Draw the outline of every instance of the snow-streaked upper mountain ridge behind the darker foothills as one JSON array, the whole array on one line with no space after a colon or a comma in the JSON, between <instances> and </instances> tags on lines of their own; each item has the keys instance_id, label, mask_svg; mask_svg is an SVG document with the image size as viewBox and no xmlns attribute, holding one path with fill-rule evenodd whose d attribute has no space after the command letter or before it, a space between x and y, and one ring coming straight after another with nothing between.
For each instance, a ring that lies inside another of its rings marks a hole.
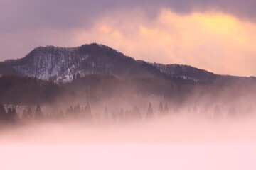
<instances>
[{"instance_id":1,"label":"snow-streaked upper mountain ridge behind the darker foothills","mask_svg":"<svg viewBox=\"0 0 256 170\"><path fill-rule=\"evenodd\" d=\"M36 47L26 57L6 60L1 64L4 65L0 65L1 74L25 75L58 83L67 83L90 74L117 78L157 77L182 84L220 84L227 79L252 79L221 76L181 64L166 65L134 60L117 50L96 43L80 47Z\"/></svg>"}]
</instances>

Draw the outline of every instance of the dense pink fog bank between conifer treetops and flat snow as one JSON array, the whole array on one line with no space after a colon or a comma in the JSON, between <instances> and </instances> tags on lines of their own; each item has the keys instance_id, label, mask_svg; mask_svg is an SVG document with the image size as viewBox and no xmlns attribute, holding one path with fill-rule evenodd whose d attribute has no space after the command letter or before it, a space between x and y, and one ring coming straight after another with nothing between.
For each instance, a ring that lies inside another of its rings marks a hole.
<instances>
[{"instance_id":1,"label":"dense pink fog bank between conifer treetops and flat snow","mask_svg":"<svg viewBox=\"0 0 256 170\"><path fill-rule=\"evenodd\" d=\"M256 142L256 117L206 118L162 115L125 123L85 120L31 121L1 129L0 143L106 144L106 143L250 143Z\"/></svg>"}]
</instances>

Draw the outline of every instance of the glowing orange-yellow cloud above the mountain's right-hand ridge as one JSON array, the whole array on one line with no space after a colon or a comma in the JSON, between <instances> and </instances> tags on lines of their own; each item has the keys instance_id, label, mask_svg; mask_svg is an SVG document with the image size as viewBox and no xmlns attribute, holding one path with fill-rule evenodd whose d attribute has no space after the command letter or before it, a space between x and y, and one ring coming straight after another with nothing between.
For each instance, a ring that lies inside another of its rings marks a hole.
<instances>
[{"instance_id":1,"label":"glowing orange-yellow cloud above the mountain's right-hand ridge","mask_svg":"<svg viewBox=\"0 0 256 170\"><path fill-rule=\"evenodd\" d=\"M256 23L225 13L117 12L78 30L75 44L100 42L149 62L190 64L218 74L256 75Z\"/></svg>"}]
</instances>

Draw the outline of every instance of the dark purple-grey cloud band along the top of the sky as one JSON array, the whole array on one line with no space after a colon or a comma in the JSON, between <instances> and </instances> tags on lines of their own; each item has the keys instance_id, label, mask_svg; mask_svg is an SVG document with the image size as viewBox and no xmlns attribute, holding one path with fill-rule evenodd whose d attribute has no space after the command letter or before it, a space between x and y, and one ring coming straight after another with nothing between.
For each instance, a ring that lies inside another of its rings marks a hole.
<instances>
[{"instance_id":1,"label":"dark purple-grey cloud band along the top of the sky","mask_svg":"<svg viewBox=\"0 0 256 170\"><path fill-rule=\"evenodd\" d=\"M140 8L154 16L159 8L178 13L216 10L241 18L256 19L255 0L1 0L0 31L43 28L90 27L112 10Z\"/></svg>"}]
</instances>

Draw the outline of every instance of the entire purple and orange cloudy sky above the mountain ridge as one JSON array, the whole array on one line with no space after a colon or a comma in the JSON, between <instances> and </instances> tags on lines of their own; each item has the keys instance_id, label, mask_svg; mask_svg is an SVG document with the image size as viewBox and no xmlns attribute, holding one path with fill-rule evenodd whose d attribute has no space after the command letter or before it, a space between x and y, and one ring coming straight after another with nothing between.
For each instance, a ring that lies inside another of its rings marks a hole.
<instances>
[{"instance_id":1,"label":"entire purple and orange cloudy sky above the mountain ridge","mask_svg":"<svg viewBox=\"0 0 256 170\"><path fill-rule=\"evenodd\" d=\"M97 42L137 60L256 76L255 0L0 0L0 61Z\"/></svg>"}]
</instances>

